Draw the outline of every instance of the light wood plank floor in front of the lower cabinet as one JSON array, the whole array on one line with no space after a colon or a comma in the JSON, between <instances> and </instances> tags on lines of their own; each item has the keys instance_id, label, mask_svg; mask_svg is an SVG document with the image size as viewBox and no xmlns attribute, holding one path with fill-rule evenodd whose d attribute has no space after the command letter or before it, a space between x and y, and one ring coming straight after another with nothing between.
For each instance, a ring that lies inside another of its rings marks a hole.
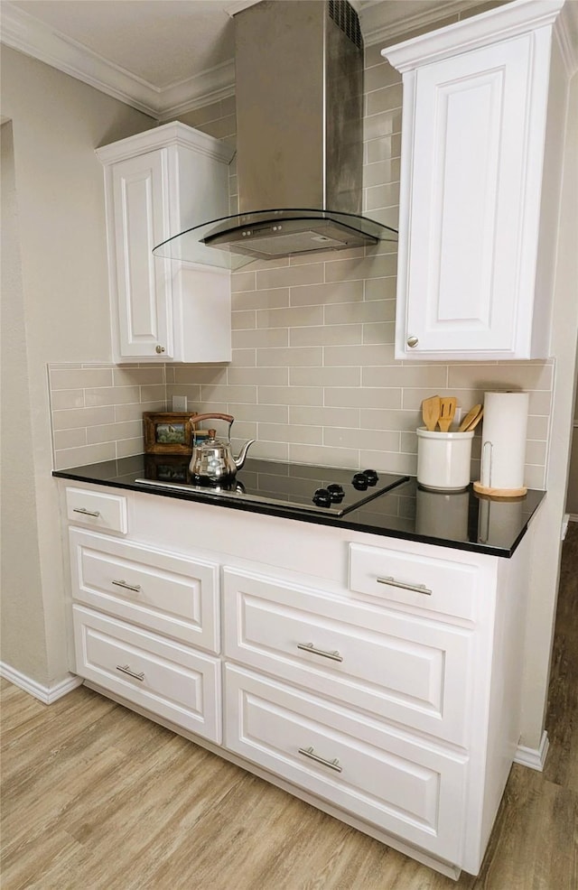
<instances>
[{"instance_id":1,"label":"light wood plank floor in front of the lower cabinet","mask_svg":"<svg viewBox=\"0 0 578 890\"><path fill-rule=\"evenodd\" d=\"M514 765L457 882L83 687L3 681L2 890L576 890L578 524L564 542L545 772Z\"/></svg>"}]
</instances>

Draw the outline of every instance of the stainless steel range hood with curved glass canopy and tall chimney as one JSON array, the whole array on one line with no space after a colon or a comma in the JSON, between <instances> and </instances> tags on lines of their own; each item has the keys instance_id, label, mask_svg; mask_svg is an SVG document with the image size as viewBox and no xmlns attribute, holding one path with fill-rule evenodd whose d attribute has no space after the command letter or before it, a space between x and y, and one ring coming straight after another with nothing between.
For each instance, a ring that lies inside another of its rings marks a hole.
<instances>
[{"instance_id":1,"label":"stainless steel range hood with curved glass canopy and tall chimney","mask_svg":"<svg viewBox=\"0 0 578 890\"><path fill-rule=\"evenodd\" d=\"M262 0L235 28L238 214L154 254L237 267L396 241L361 216L363 41L352 6Z\"/></svg>"}]
</instances>

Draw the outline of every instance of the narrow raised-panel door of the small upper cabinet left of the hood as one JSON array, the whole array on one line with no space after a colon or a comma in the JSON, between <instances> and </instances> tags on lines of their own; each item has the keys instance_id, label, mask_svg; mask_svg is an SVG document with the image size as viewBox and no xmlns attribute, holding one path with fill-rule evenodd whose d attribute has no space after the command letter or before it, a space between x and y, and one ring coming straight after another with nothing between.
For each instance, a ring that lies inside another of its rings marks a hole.
<instances>
[{"instance_id":1,"label":"narrow raised-panel door of the small upper cabinet left of the hood","mask_svg":"<svg viewBox=\"0 0 578 890\"><path fill-rule=\"evenodd\" d=\"M171 261L153 256L169 236L167 164L159 149L112 169L120 358L173 354Z\"/></svg>"}]
</instances>

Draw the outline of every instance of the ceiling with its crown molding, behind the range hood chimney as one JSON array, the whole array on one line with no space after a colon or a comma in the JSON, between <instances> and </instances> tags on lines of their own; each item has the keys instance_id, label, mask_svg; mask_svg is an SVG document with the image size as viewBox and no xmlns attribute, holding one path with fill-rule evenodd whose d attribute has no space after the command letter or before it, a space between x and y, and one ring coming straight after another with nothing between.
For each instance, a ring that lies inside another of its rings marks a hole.
<instances>
[{"instance_id":1,"label":"ceiling with its crown molding, behind the range hood chimney","mask_svg":"<svg viewBox=\"0 0 578 890\"><path fill-rule=\"evenodd\" d=\"M256 2L2 0L1 36L8 46L163 121L233 94L232 16ZM480 0L350 2L366 44L395 42L402 32L480 5Z\"/></svg>"}]
</instances>

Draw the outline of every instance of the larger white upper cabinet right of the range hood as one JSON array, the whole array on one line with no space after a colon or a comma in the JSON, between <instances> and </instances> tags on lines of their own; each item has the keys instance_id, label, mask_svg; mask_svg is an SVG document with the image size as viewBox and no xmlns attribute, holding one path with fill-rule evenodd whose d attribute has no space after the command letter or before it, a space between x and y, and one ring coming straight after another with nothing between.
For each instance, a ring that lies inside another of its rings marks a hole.
<instances>
[{"instance_id":1,"label":"larger white upper cabinet right of the range hood","mask_svg":"<svg viewBox=\"0 0 578 890\"><path fill-rule=\"evenodd\" d=\"M382 51L404 89L397 358L549 355L563 5L515 0Z\"/></svg>"}]
</instances>

